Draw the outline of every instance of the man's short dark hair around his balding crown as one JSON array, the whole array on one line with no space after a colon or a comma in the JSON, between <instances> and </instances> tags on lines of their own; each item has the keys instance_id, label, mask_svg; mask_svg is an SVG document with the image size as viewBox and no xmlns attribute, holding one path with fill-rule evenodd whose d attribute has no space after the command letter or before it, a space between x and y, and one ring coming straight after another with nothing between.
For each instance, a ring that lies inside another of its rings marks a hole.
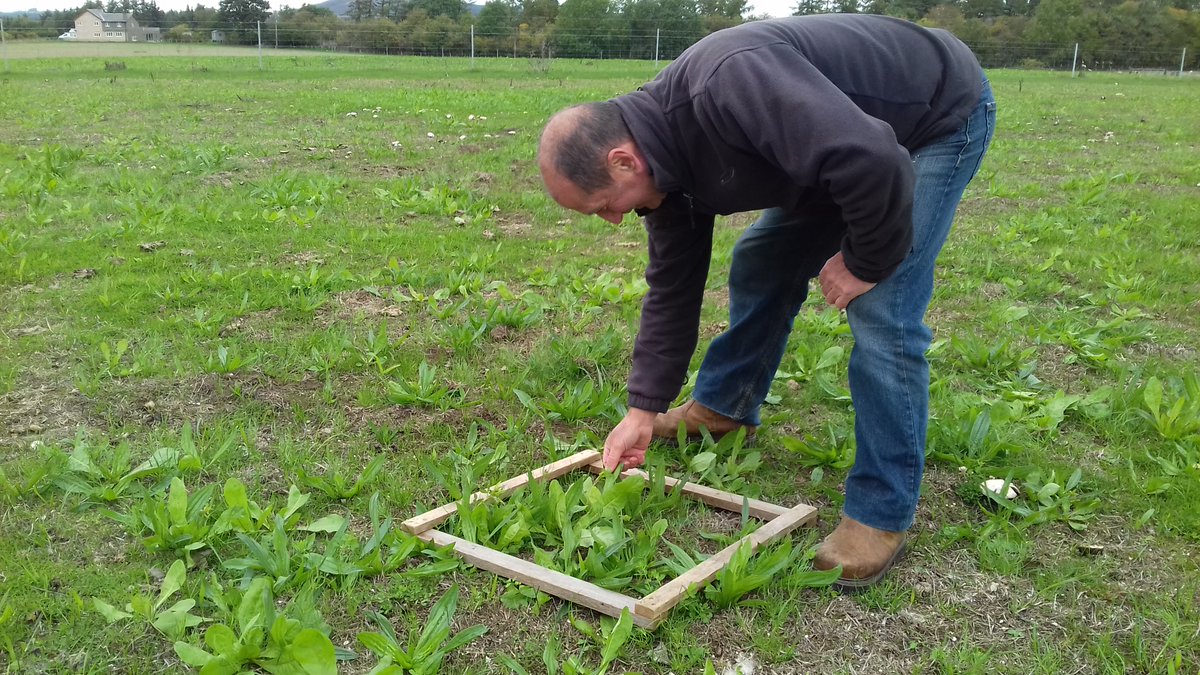
<instances>
[{"instance_id":1,"label":"man's short dark hair around his balding crown","mask_svg":"<svg viewBox=\"0 0 1200 675\"><path fill-rule=\"evenodd\" d=\"M632 139L620 108L612 101L596 101L564 112L574 113L574 124L554 144L554 169L588 195L607 187L612 184L608 150Z\"/></svg>"}]
</instances>

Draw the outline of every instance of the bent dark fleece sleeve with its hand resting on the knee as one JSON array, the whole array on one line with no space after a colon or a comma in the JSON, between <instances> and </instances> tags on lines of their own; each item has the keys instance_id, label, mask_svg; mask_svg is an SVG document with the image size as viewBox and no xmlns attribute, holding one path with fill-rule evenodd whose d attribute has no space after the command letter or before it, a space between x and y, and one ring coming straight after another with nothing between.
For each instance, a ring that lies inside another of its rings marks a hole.
<instances>
[{"instance_id":1,"label":"bent dark fleece sleeve with its hand resting on the knee","mask_svg":"<svg viewBox=\"0 0 1200 675\"><path fill-rule=\"evenodd\" d=\"M799 52L776 44L715 68L697 100L712 132L841 209L846 267L887 279L912 246L913 171L892 127L864 113Z\"/></svg>"}]
</instances>

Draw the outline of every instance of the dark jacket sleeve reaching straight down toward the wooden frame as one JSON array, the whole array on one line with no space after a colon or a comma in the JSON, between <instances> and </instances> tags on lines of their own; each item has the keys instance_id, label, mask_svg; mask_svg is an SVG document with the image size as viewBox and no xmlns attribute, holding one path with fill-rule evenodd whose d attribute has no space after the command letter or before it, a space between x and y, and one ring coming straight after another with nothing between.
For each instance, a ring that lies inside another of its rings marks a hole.
<instances>
[{"instance_id":1,"label":"dark jacket sleeve reaching straight down toward the wooden frame","mask_svg":"<svg viewBox=\"0 0 1200 675\"><path fill-rule=\"evenodd\" d=\"M642 323L634 344L629 406L664 412L679 395L696 351L700 310L713 252L713 216L670 195L646 215L649 262Z\"/></svg>"}]
</instances>

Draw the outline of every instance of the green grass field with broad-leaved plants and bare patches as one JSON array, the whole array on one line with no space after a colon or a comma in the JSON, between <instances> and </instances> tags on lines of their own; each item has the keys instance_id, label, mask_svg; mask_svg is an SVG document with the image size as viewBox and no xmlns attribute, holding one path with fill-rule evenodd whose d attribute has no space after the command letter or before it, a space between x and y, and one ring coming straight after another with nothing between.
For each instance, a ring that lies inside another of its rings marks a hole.
<instances>
[{"instance_id":1,"label":"green grass field with broad-leaved plants and bare patches","mask_svg":"<svg viewBox=\"0 0 1200 675\"><path fill-rule=\"evenodd\" d=\"M1200 83L991 73L910 556L853 597L809 572L853 458L848 328L812 304L752 450L654 456L821 524L626 634L395 524L620 418L644 234L559 209L533 154L653 65L122 56L0 77L10 671L1200 669ZM750 217L719 221L702 342ZM449 526L631 593L754 526L577 478Z\"/></svg>"}]
</instances>

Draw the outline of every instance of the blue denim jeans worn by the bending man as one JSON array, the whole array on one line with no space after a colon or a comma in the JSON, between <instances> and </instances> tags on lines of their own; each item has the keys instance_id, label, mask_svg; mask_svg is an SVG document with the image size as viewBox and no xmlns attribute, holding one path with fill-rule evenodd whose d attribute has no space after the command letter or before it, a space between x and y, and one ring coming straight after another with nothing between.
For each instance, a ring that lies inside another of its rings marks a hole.
<instances>
[{"instance_id":1,"label":"blue denim jeans worn by the bending man","mask_svg":"<svg viewBox=\"0 0 1200 675\"><path fill-rule=\"evenodd\" d=\"M967 183L991 143L996 101L984 78L979 104L962 129L912 154L913 243L904 263L846 310L854 348L854 466L846 478L846 515L880 530L907 530L917 510L929 424L925 310L934 263ZM840 250L836 214L768 209L738 239L730 268L730 325L708 347L692 398L745 424L782 360L809 280Z\"/></svg>"}]
</instances>

